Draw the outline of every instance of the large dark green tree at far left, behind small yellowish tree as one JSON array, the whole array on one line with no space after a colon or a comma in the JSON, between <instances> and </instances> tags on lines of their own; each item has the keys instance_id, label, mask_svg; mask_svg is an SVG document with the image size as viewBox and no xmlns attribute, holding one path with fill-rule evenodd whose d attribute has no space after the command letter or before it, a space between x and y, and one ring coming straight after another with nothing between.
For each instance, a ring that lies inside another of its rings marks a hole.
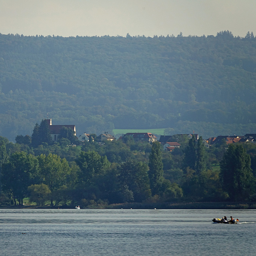
<instances>
[{"instance_id":1,"label":"large dark green tree at far left, behind small yellowish tree","mask_svg":"<svg viewBox=\"0 0 256 256\"><path fill-rule=\"evenodd\" d=\"M29 185L37 181L38 160L26 152L14 152L9 161L2 165L2 182L4 190L10 191L13 198L23 204ZM15 202L16 203L16 202Z\"/></svg>"}]
</instances>

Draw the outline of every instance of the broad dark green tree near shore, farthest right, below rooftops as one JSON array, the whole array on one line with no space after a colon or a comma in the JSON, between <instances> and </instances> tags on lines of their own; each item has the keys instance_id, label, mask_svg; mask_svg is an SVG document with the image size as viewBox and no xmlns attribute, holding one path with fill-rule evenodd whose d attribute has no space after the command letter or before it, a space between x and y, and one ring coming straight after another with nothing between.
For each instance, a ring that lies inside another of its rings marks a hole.
<instances>
[{"instance_id":1,"label":"broad dark green tree near shore, farthest right, below rooftops","mask_svg":"<svg viewBox=\"0 0 256 256\"><path fill-rule=\"evenodd\" d=\"M220 162L220 177L223 190L230 199L246 200L255 191L250 156L241 144L230 144Z\"/></svg>"}]
</instances>

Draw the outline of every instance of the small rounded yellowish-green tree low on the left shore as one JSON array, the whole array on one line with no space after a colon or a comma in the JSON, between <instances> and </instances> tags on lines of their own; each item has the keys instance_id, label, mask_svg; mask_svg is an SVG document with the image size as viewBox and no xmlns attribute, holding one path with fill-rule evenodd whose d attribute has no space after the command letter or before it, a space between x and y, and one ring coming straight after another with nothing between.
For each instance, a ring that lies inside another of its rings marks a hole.
<instances>
[{"instance_id":1,"label":"small rounded yellowish-green tree low on the left shore","mask_svg":"<svg viewBox=\"0 0 256 256\"><path fill-rule=\"evenodd\" d=\"M28 186L30 202L36 202L36 205L44 205L50 199L51 190L46 184L34 184Z\"/></svg>"}]
</instances>

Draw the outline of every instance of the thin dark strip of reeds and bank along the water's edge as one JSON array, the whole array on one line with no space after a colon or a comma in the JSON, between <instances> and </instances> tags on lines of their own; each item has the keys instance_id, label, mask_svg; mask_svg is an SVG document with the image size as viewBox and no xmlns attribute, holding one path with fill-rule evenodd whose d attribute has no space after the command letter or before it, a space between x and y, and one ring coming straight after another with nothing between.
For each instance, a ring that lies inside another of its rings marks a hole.
<instances>
[{"instance_id":1,"label":"thin dark strip of reeds and bank along the water's edge","mask_svg":"<svg viewBox=\"0 0 256 256\"><path fill-rule=\"evenodd\" d=\"M73 206L2 205L1 209L74 209ZM82 209L82 208L81 208ZM87 206L83 209L170 209L170 210L256 210L256 202L179 202L179 203L124 203Z\"/></svg>"}]
</instances>

